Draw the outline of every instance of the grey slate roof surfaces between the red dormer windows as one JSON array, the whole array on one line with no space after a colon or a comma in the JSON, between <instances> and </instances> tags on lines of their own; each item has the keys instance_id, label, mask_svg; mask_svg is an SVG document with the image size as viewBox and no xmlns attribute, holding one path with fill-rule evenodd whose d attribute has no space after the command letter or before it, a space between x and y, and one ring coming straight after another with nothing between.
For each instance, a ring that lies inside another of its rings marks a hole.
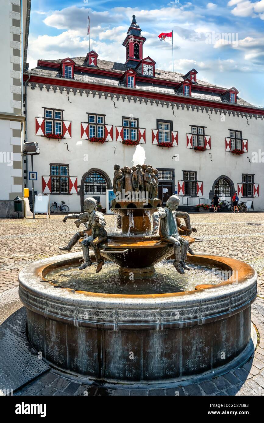
<instances>
[{"instance_id":1,"label":"grey slate roof surfaces between the red dormer windows","mask_svg":"<svg viewBox=\"0 0 264 423\"><path fill-rule=\"evenodd\" d=\"M91 69L91 66L88 66L87 63L85 62L85 57L73 57L71 58L72 60L74 60L74 62L76 63L77 66L83 66L83 67L87 67L89 69ZM61 60L63 59L56 59L56 60L47 60L47 59L41 59L41 61L43 62L49 62L49 63L60 63ZM49 67L45 66L45 69L43 69L44 66L37 66L34 69L30 69L28 71L28 73L37 73L41 74L43 76L45 76L45 73L47 73L47 76L54 76L54 77L58 77L60 74L60 70L59 69L55 69L52 68L50 65ZM102 75L96 75L96 69L102 70L102 71L111 71L111 72L115 72L116 73L116 80L114 77L107 77L107 76L102 76ZM94 68L94 75L93 74L88 74L88 80L93 80L95 79L96 82L107 82L107 80L111 81L111 85L118 85L119 82L119 78L120 75L123 74L126 70L127 70L127 66L125 66L123 63L117 63L117 62L111 62L109 60L100 60L97 59L97 68ZM151 83L147 83L147 82L137 82L136 87L140 88L142 87L143 89L150 89L151 91L159 91L159 88L162 88L162 90L165 90L165 92L168 92L168 94L175 94L175 91L173 90L172 87L167 86L166 83L164 81L168 80L168 82L182 82L184 80L184 75L185 74L181 74L179 72L171 72L171 71L164 71L161 69L155 69L155 78L151 79ZM84 74L76 71L74 73L74 77L83 77ZM159 80L163 80L160 81ZM156 86L153 85L153 82L156 82ZM212 101L217 101L217 102L223 102L223 99L220 97L220 95L218 93L214 92L214 88L220 88L223 90L228 90L228 88L225 87L221 87L219 85L214 85L214 84L210 84L209 82L206 81L202 81L197 79L197 85L199 85L200 87L204 86L206 88L212 88L212 93L210 91L202 91L201 88L198 90L196 88L196 84L192 85L192 97L194 98L198 98L198 99L210 99ZM245 100L241 99L239 96L237 96L237 104L243 104L243 105L248 105L252 107L252 104L250 104L249 102L246 102Z\"/></svg>"}]
</instances>

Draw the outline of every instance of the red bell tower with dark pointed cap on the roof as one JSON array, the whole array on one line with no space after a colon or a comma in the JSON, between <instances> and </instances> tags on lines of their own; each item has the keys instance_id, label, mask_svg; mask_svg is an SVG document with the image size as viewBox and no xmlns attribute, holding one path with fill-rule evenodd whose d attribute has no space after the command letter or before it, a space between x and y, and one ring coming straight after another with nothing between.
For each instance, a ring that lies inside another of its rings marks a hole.
<instances>
[{"instance_id":1,"label":"red bell tower with dark pointed cap on the roof","mask_svg":"<svg viewBox=\"0 0 264 423\"><path fill-rule=\"evenodd\" d=\"M127 36L123 42L126 47L126 62L128 68L135 68L143 59L143 44L146 38L141 35L141 28L137 25L136 17L133 19L127 31Z\"/></svg>"}]
</instances>

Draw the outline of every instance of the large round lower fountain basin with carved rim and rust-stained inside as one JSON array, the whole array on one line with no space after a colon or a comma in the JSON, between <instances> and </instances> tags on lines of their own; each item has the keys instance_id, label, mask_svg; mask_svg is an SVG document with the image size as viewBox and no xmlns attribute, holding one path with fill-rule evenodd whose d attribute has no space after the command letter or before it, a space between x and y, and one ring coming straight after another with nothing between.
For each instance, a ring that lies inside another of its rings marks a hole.
<instances>
[{"instance_id":1,"label":"large round lower fountain basin with carved rim and rust-stained inside","mask_svg":"<svg viewBox=\"0 0 264 423\"><path fill-rule=\"evenodd\" d=\"M49 281L51 272L81 261L80 253L57 255L19 273L29 340L55 368L104 382L157 384L225 373L225 366L230 370L252 354L250 304L257 275L248 264L188 255L191 266L232 276L178 292L103 293Z\"/></svg>"}]
</instances>

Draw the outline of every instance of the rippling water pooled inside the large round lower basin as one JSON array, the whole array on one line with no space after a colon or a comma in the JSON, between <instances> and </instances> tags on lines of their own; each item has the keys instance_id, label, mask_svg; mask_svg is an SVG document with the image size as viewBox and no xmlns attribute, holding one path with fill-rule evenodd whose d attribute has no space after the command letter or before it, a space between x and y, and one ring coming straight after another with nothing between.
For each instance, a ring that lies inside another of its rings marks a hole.
<instances>
[{"instance_id":1,"label":"rippling water pooled inside the large round lower basin","mask_svg":"<svg viewBox=\"0 0 264 423\"><path fill-rule=\"evenodd\" d=\"M157 275L149 279L124 280L118 266L106 262L102 271L95 273L96 264L84 270L77 266L61 267L48 273L46 279L64 288L105 294L167 294L191 291L199 284L220 283L220 269L190 264L191 270L179 275L173 261L163 260L155 266ZM217 273L219 271L219 274Z\"/></svg>"}]
</instances>

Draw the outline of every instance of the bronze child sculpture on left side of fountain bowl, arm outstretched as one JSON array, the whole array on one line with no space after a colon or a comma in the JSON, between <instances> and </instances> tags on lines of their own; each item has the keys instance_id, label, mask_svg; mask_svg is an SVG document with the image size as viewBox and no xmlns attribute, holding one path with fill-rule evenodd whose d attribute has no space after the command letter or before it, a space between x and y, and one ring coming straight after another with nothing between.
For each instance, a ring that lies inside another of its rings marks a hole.
<instances>
[{"instance_id":1,"label":"bronze child sculpture on left side of fountain bowl, arm outstretched","mask_svg":"<svg viewBox=\"0 0 264 423\"><path fill-rule=\"evenodd\" d=\"M79 267L80 270L85 269L88 266L91 266L92 262L89 256L89 246L91 246L93 253L95 255L97 261L97 269L96 273L102 270L102 266L104 264L104 260L100 254L99 244L107 240L107 231L104 229L106 225L104 215L96 210L97 208L97 201L94 198L85 198L83 208L85 213L80 214L68 214L64 217L63 222L66 223L67 219L77 219L75 220L75 225L79 228L81 223L84 223L87 231L91 229L91 236L85 238L82 243L82 251L83 251L83 258L84 264ZM59 247L60 250L70 251L71 247L76 244L76 242L82 237L87 236L86 231L80 231L75 233L75 235L71 238L70 242L66 247Z\"/></svg>"}]
</instances>

